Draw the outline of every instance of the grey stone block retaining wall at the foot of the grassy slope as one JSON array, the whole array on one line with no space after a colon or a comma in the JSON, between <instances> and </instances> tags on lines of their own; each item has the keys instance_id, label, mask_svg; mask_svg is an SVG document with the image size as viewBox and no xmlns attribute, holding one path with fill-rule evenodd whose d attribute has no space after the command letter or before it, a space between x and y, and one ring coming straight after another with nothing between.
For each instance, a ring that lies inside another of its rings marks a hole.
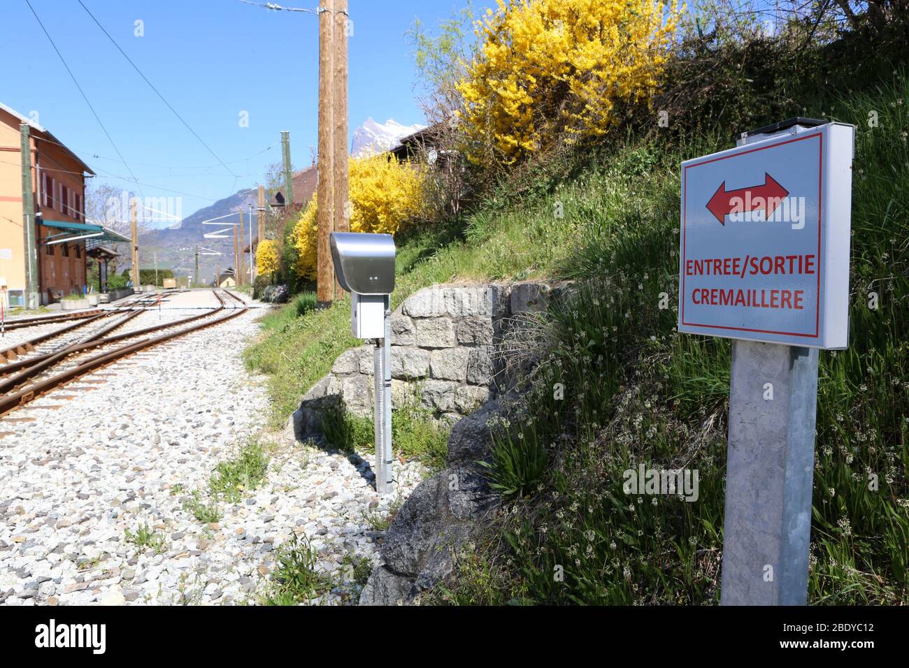
<instances>
[{"instance_id":1,"label":"grey stone block retaining wall at the foot of the grassy slope","mask_svg":"<svg viewBox=\"0 0 909 668\"><path fill-rule=\"evenodd\" d=\"M408 297L392 315L393 404L419 401L454 424L494 399L503 389L496 344L515 315L544 309L553 289L545 283L435 285ZM329 405L372 414L374 350L346 351L306 394L288 425L297 440L321 438Z\"/></svg>"}]
</instances>

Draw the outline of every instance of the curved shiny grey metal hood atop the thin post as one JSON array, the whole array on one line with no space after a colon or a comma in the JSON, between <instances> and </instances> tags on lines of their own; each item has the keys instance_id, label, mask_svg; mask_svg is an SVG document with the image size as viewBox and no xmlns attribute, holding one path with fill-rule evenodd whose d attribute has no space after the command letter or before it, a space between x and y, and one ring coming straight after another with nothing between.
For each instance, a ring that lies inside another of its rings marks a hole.
<instances>
[{"instance_id":1,"label":"curved shiny grey metal hood atop the thin post","mask_svg":"<svg viewBox=\"0 0 909 668\"><path fill-rule=\"evenodd\" d=\"M355 294L395 292L395 239L391 234L333 232L338 283Z\"/></svg>"}]
</instances>

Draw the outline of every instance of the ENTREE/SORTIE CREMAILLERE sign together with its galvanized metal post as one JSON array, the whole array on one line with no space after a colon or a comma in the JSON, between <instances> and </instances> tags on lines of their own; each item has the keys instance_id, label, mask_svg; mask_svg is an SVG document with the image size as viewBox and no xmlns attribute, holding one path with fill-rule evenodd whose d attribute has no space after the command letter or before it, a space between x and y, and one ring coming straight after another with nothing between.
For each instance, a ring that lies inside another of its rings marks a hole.
<instances>
[{"instance_id":1,"label":"ENTREE/SORTIE CREMAILLERE sign together with its galvanized metal post","mask_svg":"<svg viewBox=\"0 0 909 668\"><path fill-rule=\"evenodd\" d=\"M848 345L854 127L792 119L682 165L679 332L735 339L724 605L804 604L819 349Z\"/></svg>"}]
</instances>

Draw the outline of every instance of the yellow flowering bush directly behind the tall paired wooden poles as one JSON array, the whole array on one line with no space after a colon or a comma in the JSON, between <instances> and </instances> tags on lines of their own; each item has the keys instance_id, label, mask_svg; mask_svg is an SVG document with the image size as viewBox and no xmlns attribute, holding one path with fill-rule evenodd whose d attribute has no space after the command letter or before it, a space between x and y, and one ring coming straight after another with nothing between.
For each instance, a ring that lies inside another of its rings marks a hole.
<instances>
[{"instance_id":1,"label":"yellow flowering bush directly behind the tall paired wooden poles","mask_svg":"<svg viewBox=\"0 0 909 668\"><path fill-rule=\"evenodd\" d=\"M350 230L395 234L423 208L424 173L417 165L401 164L386 154L352 158L350 174ZM296 273L315 278L318 250L318 204L306 206L294 226Z\"/></svg>"}]
</instances>

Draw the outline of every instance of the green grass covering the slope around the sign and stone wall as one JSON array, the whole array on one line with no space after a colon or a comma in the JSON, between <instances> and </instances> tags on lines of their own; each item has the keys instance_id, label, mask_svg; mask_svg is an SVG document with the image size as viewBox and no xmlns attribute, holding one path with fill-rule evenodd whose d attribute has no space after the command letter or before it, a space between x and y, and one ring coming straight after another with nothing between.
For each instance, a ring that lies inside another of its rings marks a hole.
<instances>
[{"instance_id":1,"label":"green grass covering the slope around the sign and stone wall","mask_svg":"<svg viewBox=\"0 0 909 668\"><path fill-rule=\"evenodd\" d=\"M804 115L858 126L853 337L821 358L810 603L909 600L907 105L905 72L866 94L805 102ZM718 135L615 141L539 165L495 189L463 227L398 239L395 305L471 278L571 278L580 295L541 324L548 361L528 380L521 424L494 438L490 475L511 512L430 601L718 602L730 345L675 332L679 165L728 148ZM358 342L346 302L303 317L287 307L264 326L246 359L272 374L282 422ZM368 423L338 434L354 434L354 447L372 441ZM622 474L639 463L697 469L698 501L624 494Z\"/></svg>"}]
</instances>

